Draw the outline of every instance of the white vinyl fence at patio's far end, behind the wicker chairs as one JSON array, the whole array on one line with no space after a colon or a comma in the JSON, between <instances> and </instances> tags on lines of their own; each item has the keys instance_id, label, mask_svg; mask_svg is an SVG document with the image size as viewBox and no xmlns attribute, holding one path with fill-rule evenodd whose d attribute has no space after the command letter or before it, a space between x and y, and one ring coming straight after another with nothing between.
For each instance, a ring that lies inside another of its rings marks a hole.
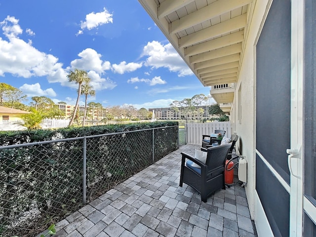
<instances>
[{"instance_id":1,"label":"white vinyl fence at patio's far end, behind the wicker chairs","mask_svg":"<svg viewBox=\"0 0 316 237\"><path fill-rule=\"evenodd\" d=\"M226 136L231 137L231 122L205 122L185 124L186 143L202 145L202 135L211 135L215 130L225 130Z\"/></svg>"}]
</instances>

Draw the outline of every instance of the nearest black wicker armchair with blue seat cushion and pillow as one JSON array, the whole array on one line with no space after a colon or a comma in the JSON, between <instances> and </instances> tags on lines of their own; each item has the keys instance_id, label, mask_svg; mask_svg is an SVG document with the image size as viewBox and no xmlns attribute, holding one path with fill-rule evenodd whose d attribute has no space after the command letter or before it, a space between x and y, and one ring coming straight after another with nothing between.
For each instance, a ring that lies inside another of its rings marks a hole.
<instances>
[{"instance_id":1,"label":"nearest black wicker armchair with blue seat cushion and pillow","mask_svg":"<svg viewBox=\"0 0 316 237\"><path fill-rule=\"evenodd\" d=\"M185 183L196 189L201 194L203 202L206 202L207 197L216 190L225 189L225 160L230 148L231 144L225 144L203 149L207 151L205 163L182 152L179 186L182 187ZM193 167L193 163L198 164L200 168Z\"/></svg>"}]
</instances>

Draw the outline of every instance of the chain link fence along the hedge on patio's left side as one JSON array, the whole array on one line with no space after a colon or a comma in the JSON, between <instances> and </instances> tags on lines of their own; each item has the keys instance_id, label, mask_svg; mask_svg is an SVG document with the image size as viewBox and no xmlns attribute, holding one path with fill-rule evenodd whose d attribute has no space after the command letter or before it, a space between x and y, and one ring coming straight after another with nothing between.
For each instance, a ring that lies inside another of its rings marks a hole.
<instances>
[{"instance_id":1,"label":"chain link fence along the hedge on patio's left side","mask_svg":"<svg viewBox=\"0 0 316 237\"><path fill-rule=\"evenodd\" d=\"M169 126L0 147L0 236L36 236L178 146Z\"/></svg>"}]
</instances>

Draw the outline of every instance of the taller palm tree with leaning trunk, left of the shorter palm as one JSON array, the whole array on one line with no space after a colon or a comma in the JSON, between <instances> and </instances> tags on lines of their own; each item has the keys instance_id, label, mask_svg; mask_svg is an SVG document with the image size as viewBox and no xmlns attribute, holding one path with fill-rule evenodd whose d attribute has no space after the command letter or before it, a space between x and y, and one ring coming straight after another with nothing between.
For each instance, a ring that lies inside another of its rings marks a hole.
<instances>
[{"instance_id":1,"label":"taller palm tree with leaning trunk, left of the shorter palm","mask_svg":"<svg viewBox=\"0 0 316 237\"><path fill-rule=\"evenodd\" d=\"M74 119L76 117L76 113L78 109L79 98L81 95L81 85L82 83L89 83L91 79L88 77L88 73L86 71L77 69L77 68L75 69L75 71L70 71L70 73L67 75L67 78L69 82L75 82L76 84L78 84L78 97L77 97L77 101L75 105L75 110L68 125L68 126L71 126L74 123Z\"/></svg>"}]
</instances>

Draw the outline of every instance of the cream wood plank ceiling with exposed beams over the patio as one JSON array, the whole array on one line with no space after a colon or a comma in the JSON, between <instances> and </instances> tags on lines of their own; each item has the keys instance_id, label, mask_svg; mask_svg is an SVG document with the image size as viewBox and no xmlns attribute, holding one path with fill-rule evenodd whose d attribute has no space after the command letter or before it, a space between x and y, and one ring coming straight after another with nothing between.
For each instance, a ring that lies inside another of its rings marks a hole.
<instances>
[{"instance_id":1,"label":"cream wood plank ceiling with exposed beams over the patio","mask_svg":"<svg viewBox=\"0 0 316 237\"><path fill-rule=\"evenodd\" d=\"M139 0L204 86L237 82L252 0Z\"/></svg>"}]
</instances>

